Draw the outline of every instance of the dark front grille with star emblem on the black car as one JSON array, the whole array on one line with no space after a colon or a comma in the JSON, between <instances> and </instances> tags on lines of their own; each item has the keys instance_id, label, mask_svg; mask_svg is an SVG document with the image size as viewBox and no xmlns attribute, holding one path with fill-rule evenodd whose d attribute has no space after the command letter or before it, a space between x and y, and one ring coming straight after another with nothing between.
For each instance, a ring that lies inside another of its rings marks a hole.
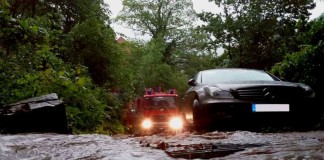
<instances>
[{"instance_id":1,"label":"dark front grille with star emblem on the black car","mask_svg":"<svg viewBox=\"0 0 324 160\"><path fill-rule=\"evenodd\" d=\"M302 98L302 90L296 87L256 87L236 90L236 97L242 100L285 101Z\"/></svg>"}]
</instances>

